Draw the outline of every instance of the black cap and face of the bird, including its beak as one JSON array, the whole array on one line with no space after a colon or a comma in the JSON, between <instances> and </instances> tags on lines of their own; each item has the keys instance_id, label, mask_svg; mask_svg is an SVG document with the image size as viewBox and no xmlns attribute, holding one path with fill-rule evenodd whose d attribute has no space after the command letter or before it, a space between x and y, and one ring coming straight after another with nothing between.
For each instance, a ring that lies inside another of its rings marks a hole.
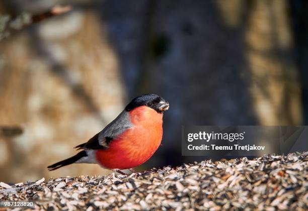
<instances>
[{"instance_id":1,"label":"black cap and face of the bird, including its beak","mask_svg":"<svg viewBox=\"0 0 308 211\"><path fill-rule=\"evenodd\" d=\"M169 109L169 102L157 94L142 94L133 98L125 107L125 111L129 112L133 109L145 105L158 113L162 113Z\"/></svg>"}]
</instances>

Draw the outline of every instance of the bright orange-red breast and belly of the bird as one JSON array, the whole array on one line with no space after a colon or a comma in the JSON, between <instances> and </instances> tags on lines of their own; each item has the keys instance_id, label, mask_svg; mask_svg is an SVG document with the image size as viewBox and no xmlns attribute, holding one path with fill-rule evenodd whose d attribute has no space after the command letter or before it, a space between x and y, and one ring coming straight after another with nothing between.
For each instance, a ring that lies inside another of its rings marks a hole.
<instances>
[{"instance_id":1,"label":"bright orange-red breast and belly of the bird","mask_svg":"<svg viewBox=\"0 0 308 211\"><path fill-rule=\"evenodd\" d=\"M113 139L108 149L98 150L97 161L109 169L128 169L147 161L163 137L163 114L146 106L129 112L132 128Z\"/></svg>"}]
</instances>

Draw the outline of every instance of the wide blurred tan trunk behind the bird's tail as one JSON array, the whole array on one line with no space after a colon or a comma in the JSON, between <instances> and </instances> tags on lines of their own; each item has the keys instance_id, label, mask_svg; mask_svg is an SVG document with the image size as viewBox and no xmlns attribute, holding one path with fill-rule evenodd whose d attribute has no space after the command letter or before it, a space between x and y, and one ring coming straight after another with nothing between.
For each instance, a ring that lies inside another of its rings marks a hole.
<instances>
[{"instance_id":1,"label":"wide blurred tan trunk behind the bird's tail","mask_svg":"<svg viewBox=\"0 0 308 211\"><path fill-rule=\"evenodd\" d=\"M10 1L2 13L36 14L53 7L50 1L36 4ZM123 108L118 60L95 7L74 9L15 33L1 41L0 52L0 126L24 130L20 136L0 136L0 181L104 174L98 165L46 168L74 155L74 146L88 141Z\"/></svg>"}]
</instances>

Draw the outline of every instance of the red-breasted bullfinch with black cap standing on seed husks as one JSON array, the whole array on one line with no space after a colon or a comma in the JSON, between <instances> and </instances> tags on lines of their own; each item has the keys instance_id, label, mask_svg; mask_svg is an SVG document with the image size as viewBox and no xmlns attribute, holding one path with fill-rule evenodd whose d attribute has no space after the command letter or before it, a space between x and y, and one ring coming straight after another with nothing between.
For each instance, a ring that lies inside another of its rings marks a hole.
<instances>
[{"instance_id":1,"label":"red-breasted bullfinch with black cap standing on seed husks","mask_svg":"<svg viewBox=\"0 0 308 211\"><path fill-rule=\"evenodd\" d=\"M94 163L120 174L147 161L163 138L163 114L169 102L157 94L133 98L125 109L88 142L74 148L76 155L48 166L49 171L73 163Z\"/></svg>"}]
</instances>

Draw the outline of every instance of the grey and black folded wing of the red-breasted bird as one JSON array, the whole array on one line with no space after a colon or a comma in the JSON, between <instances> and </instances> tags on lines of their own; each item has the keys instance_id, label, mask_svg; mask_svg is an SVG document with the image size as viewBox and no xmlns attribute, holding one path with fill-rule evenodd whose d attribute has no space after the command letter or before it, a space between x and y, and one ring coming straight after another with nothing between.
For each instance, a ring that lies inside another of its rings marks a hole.
<instances>
[{"instance_id":1,"label":"grey and black folded wing of the red-breasted bird","mask_svg":"<svg viewBox=\"0 0 308 211\"><path fill-rule=\"evenodd\" d=\"M101 132L92 137L87 143L76 146L78 149L106 149L110 142L122 134L125 130L132 127L129 114L125 110L119 114L110 124Z\"/></svg>"}]
</instances>

